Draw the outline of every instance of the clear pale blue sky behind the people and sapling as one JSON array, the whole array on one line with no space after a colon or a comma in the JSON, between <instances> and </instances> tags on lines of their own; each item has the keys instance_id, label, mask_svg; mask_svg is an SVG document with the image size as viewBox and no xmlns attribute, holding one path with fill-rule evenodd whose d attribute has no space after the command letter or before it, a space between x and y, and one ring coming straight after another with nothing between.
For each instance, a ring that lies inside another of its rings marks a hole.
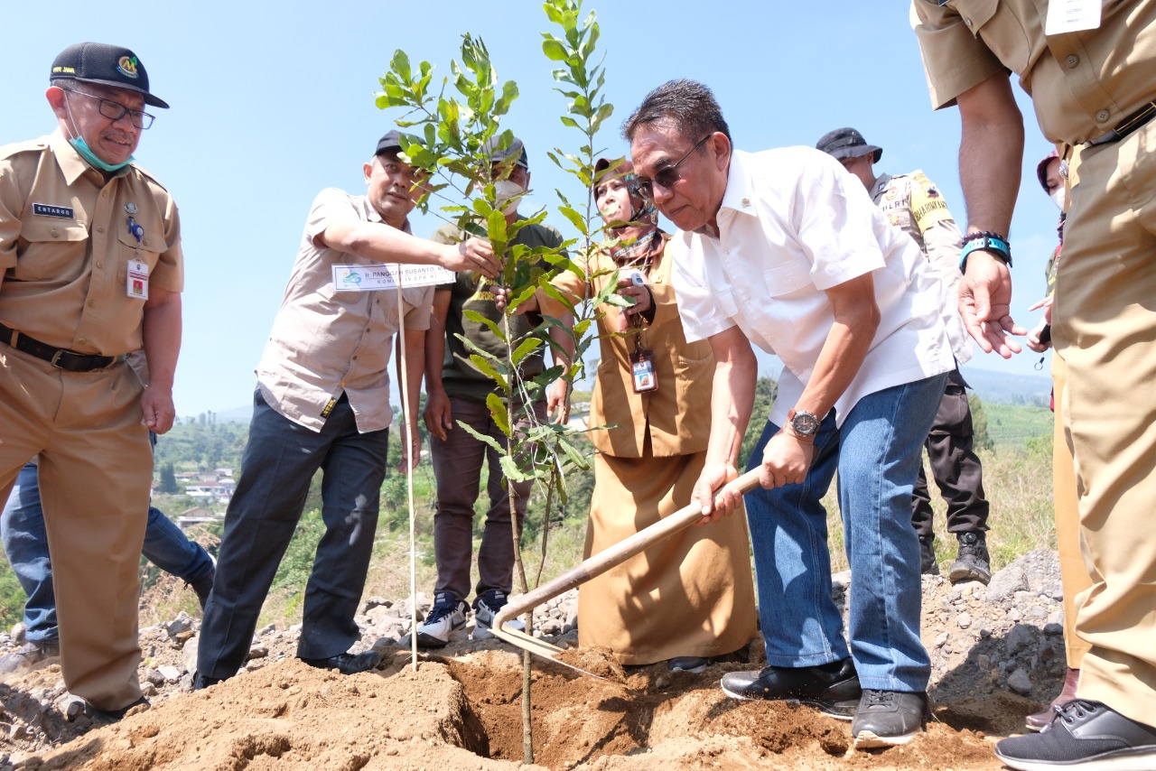
<instances>
[{"instance_id":1,"label":"clear pale blue sky behind the people and sapling","mask_svg":"<svg viewBox=\"0 0 1156 771\"><path fill-rule=\"evenodd\" d=\"M550 29L541 5L450 0L394 13L399 8L363 0L172 0L99 9L58 0L50 12L35 3L6 8L0 143L55 127L44 98L49 66L82 40L133 49L153 91L172 105L155 111L136 158L180 208L186 286L179 415L250 401L253 368L310 202L324 187L363 191L362 163L398 117L373 105L377 79L397 49L446 76L460 36L482 37L499 77L516 80L521 91L504 124L531 154L534 194L521 210L555 206L557 187L571 198L583 194L546 157L550 148L572 151L579 142L558 121L565 103L551 90L551 65L541 53L540 32ZM586 9L598 12L606 96L615 105L599 138L608 154L625 153L617 127L651 88L692 77L714 89L736 147L814 144L832 128L854 126L884 149L876 171L922 169L956 220L965 221L958 113L931 109L905 3L674 0ZM1030 326L1027 307L1043 295L1057 212L1035 177L1050 146L1029 99L1016 92L1028 147L1010 233L1013 314ZM561 216L550 221L566 232ZM428 236L437 224L418 217L414 231ZM971 366L1031 375L1038 358L1030 351L1013 362L977 354Z\"/></svg>"}]
</instances>

